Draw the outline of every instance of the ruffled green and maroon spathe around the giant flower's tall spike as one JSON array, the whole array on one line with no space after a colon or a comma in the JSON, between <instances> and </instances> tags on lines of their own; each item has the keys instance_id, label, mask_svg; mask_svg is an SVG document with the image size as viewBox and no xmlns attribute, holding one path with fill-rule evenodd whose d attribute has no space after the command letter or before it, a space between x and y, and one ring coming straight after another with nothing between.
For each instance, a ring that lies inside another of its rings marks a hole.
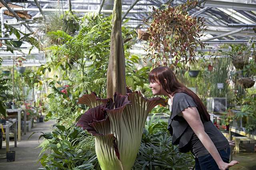
<instances>
[{"instance_id":1,"label":"ruffled green and maroon spathe around the giant flower's tall spike","mask_svg":"<svg viewBox=\"0 0 256 170\"><path fill-rule=\"evenodd\" d=\"M148 113L162 98L146 99L140 92L118 93L100 99L96 94L84 95L78 104L90 107L77 125L94 135L95 150L102 170L131 170L140 147L142 130Z\"/></svg>"}]
</instances>

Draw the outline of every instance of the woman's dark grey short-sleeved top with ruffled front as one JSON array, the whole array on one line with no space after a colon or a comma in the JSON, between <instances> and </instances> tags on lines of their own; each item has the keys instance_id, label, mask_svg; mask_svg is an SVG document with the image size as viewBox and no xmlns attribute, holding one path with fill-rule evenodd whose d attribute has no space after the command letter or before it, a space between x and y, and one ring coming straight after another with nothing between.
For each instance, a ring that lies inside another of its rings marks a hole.
<instances>
[{"instance_id":1,"label":"woman's dark grey short-sleeved top with ruffled front","mask_svg":"<svg viewBox=\"0 0 256 170\"><path fill-rule=\"evenodd\" d=\"M209 154L186 120L178 116L181 111L188 107L197 107L193 98L185 93L176 93L172 103L172 115L168 126L168 130L173 135L172 143L174 145L179 144L181 152L191 151L196 157ZM226 137L214 126L212 121L206 121L203 125L205 132L209 135L217 150L229 146Z\"/></svg>"}]
</instances>

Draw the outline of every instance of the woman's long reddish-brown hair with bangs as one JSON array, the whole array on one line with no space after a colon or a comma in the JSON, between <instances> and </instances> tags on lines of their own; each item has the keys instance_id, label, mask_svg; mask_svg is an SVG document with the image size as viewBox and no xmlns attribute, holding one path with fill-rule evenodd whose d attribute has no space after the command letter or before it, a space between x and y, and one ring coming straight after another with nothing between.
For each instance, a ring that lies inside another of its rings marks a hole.
<instances>
[{"instance_id":1,"label":"woman's long reddish-brown hair with bangs","mask_svg":"<svg viewBox=\"0 0 256 170\"><path fill-rule=\"evenodd\" d=\"M166 79L167 83L164 81ZM210 115L207 112L206 107L200 100L200 98L192 92L192 90L188 89L186 86L184 86L182 83L178 81L176 76L174 75L174 72L167 66L159 66L154 68L149 73L149 81L150 82L158 82L161 84L163 89L171 95L174 95L176 93L185 93L191 96L196 103L196 108L198 109L200 118L202 122L210 120Z\"/></svg>"}]
</instances>

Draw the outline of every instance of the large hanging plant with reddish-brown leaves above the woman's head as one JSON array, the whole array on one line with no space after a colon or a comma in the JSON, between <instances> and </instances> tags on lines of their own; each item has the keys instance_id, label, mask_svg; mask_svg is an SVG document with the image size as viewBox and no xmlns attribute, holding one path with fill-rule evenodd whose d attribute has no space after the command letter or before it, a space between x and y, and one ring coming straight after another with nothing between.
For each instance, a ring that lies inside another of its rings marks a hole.
<instances>
[{"instance_id":1,"label":"large hanging plant with reddish-brown leaves above the woman's head","mask_svg":"<svg viewBox=\"0 0 256 170\"><path fill-rule=\"evenodd\" d=\"M168 65L171 68L185 67L196 57L196 48L204 48L200 38L206 31L203 18L191 17L188 9L198 4L198 1L188 0L186 3L165 9L153 8L152 21L147 55L155 66Z\"/></svg>"}]
</instances>

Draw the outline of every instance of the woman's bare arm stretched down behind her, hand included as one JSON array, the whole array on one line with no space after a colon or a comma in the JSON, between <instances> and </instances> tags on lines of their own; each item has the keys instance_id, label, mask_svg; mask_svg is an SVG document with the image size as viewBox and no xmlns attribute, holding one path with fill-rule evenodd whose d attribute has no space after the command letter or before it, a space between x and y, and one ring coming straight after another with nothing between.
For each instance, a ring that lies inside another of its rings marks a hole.
<instances>
[{"instance_id":1,"label":"woman's bare arm stretched down behind her, hand included","mask_svg":"<svg viewBox=\"0 0 256 170\"><path fill-rule=\"evenodd\" d=\"M184 111L182 111L179 115L184 117L184 119L188 122L198 139L212 155L220 170L228 169L230 166L238 163L236 160L233 160L228 164L222 160L214 143L212 142L208 134L204 131L204 125L200 119L200 115L196 107L188 107L184 109Z\"/></svg>"}]
</instances>

